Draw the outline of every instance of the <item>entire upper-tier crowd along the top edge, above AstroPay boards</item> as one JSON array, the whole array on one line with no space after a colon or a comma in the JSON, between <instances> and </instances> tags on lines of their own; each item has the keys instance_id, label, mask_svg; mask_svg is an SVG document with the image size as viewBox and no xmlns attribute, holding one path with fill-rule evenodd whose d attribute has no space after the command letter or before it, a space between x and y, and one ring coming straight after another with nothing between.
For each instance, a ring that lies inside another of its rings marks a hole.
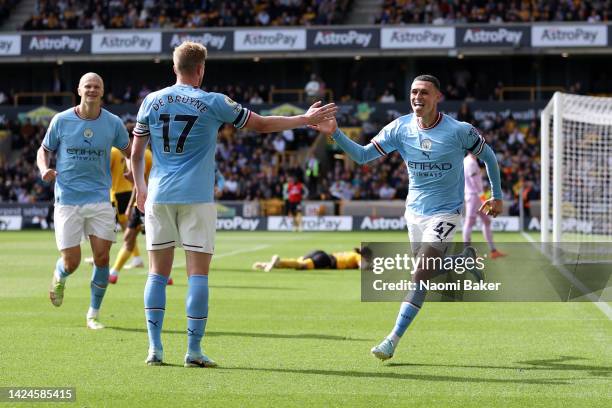
<instances>
[{"instance_id":1,"label":"entire upper-tier crowd along the top edge, above AstroPay boards","mask_svg":"<svg viewBox=\"0 0 612 408\"><path fill-rule=\"evenodd\" d=\"M15 3L0 2L0 21ZM39 0L24 30L342 24L350 0ZM384 0L377 24L609 21L609 0Z\"/></svg>"}]
</instances>

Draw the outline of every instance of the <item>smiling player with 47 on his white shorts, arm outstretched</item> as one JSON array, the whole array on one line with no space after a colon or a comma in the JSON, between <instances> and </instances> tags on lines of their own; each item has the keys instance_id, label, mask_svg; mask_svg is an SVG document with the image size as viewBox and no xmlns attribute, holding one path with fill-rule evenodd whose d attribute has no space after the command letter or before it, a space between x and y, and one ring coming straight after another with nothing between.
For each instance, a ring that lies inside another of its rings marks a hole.
<instances>
[{"instance_id":1,"label":"smiling player with 47 on his white shorts, arm outstretched","mask_svg":"<svg viewBox=\"0 0 612 408\"><path fill-rule=\"evenodd\" d=\"M340 131L335 120L315 129L328 134L356 162L362 164L397 150L409 175L406 198L406 223L414 255L445 256L461 221L463 207L463 158L471 152L485 162L493 197L480 211L497 216L502 211L499 167L493 150L470 124L438 112L442 94L440 82L432 75L416 77L410 89L414 113L389 123L367 146L361 146ZM472 248L470 248L473 251ZM457 255L459 256L459 255ZM443 271L427 270L421 265L413 279L426 280ZM476 273L475 273L476 274ZM477 275L477 274L476 274ZM479 276L479 275L477 275ZM382 343L372 348L381 360L393 357L397 344L419 312L426 290L410 291L402 303L395 327Z\"/></svg>"}]
</instances>

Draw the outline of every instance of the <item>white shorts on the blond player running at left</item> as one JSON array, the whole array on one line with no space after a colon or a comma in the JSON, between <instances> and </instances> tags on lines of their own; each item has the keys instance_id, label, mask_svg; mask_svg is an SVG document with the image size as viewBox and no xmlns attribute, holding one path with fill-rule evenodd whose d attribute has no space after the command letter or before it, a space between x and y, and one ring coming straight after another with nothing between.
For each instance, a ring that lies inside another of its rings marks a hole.
<instances>
[{"instance_id":1,"label":"white shorts on the blond player running at left","mask_svg":"<svg viewBox=\"0 0 612 408\"><path fill-rule=\"evenodd\" d=\"M115 242L115 210L110 202L85 205L56 204L53 211L55 242L61 251L79 246L83 238L94 235Z\"/></svg>"}]
</instances>

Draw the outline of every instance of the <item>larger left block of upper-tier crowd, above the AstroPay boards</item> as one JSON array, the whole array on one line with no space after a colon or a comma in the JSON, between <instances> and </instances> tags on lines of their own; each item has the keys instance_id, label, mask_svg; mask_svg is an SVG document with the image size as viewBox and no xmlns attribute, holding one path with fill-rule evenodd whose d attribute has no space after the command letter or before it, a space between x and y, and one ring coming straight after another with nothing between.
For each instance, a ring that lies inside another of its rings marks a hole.
<instances>
[{"instance_id":1,"label":"larger left block of upper-tier crowd, above the AstroPay boards","mask_svg":"<svg viewBox=\"0 0 612 408\"><path fill-rule=\"evenodd\" d=\"M24 30L329 25L350 0L39 0Z\"/></svg>"}]
</instances>

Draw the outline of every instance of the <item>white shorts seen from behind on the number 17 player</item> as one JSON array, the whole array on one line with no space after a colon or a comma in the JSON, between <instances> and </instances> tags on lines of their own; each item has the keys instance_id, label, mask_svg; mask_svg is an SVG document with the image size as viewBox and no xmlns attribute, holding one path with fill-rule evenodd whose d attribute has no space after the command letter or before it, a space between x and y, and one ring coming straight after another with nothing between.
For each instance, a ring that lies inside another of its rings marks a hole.
<instances>
[{"instance_id":1,"label":"white shorts seen from behind on the number 17 player","mask_svg":"<svg viewBox=\"0 0 612 408\"><path fill-rule=\"evenodd\" d=\"M214 253L215 203L147 204L144 221L149 251L182 247L187 251Z\"/></svg>"}]
</instances>

